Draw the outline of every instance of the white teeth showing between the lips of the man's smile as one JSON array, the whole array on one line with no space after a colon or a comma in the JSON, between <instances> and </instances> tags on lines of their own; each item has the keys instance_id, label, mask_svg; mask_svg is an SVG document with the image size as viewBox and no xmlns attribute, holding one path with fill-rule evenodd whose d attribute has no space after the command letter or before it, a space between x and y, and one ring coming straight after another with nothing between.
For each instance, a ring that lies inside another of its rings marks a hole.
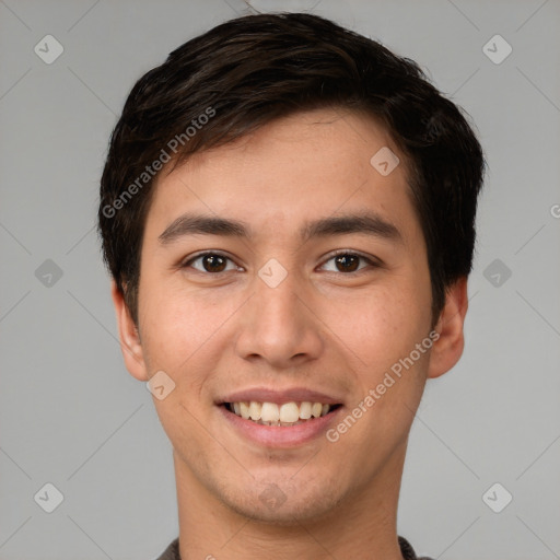
<instances>
[{"instance_id":1,"label":"white teeth showing between the lips of the man's smile","mask_svg":"<svg viewBox=\"0 0 560 560\"><path fill-rule=\"evenodd\" d=\"M257 402L240 401L223 402L222 406L230 412L250 420L260 425L290 427L322 418L332 413L342 405L325 405L323 402L284 402L277 405L276 402Z\"/></svg>"}]
</instances>

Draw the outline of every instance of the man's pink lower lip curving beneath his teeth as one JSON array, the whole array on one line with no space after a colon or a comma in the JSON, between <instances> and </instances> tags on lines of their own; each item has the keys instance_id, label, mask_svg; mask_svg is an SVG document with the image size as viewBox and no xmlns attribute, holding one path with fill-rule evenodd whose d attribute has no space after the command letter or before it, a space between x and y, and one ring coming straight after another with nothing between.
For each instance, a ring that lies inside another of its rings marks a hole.
<instances>
[{"instance_id":1,"label":"man's pink lower lip curving beneath his teeth","mask_svg":"<svg viewBox=\"0 0 560 560\"><path fill-rule=\"evenodd\" d=\"M252 420L245 420L241 416L230 412L225 406L218 407L225 420L242 435L259 445L268 447L296 447L311 442L315 438L324 434L328 427L336 421L340 410L338 407L332 412L306 420L296 425L264 425L257 424Z\"/></svg>"}]
</instances>

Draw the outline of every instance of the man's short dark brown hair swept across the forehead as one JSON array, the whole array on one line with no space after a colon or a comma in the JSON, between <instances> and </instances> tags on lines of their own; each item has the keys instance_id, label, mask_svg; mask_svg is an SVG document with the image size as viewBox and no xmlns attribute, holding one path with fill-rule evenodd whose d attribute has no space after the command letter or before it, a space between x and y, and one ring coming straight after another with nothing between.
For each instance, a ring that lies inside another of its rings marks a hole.
<instances>
[{"instance_id":1,"label":"man's short dark brown hair swept across the forehead","mask_svg":"<svg viewBox=\"0 0 560 560\"><path fill-rule=\"evenodd\" d=\"M140 78L125 103L101 179L98 231L137 325L142 235L163 152L176 165L322 107L376 117L410 163L435 324L446 287L472 267L482 149L462 109L415 61L324 18L281 13L234 19L188 40Z\"/></svg>"}]
</instances>

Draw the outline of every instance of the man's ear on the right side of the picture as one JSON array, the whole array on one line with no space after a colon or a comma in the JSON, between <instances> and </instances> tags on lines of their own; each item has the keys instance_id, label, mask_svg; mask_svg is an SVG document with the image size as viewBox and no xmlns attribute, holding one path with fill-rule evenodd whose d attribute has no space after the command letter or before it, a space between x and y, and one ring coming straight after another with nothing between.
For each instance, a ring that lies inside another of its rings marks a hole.
<instances>
[{"instance_id":1,"label":"man's ear on the right side of the picture","mask_svg":"<svg viewBox=\"0 0 560 560\"><path fill-rule=\"evenodd\" d=\"M430 352L428 377L443 375L459 361L465 347L463 325L467 307L467 278L462 277L445 292L445 305L435 326L440 338Z\"/></svg>"}]
</instances>

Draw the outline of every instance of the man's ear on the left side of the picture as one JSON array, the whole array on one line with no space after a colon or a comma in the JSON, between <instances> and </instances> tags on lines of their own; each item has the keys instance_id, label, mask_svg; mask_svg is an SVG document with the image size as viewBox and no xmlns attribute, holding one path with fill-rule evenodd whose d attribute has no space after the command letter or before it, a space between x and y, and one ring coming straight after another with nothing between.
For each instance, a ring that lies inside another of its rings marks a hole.
<instances>
[{"instance_id":1,"label":"man's ear on the left side of the picture","mask_svg":"<svg viewBox=\"0 0 560 560\"><path fill-rule=\"evenodd\" d=\"M110 295L115 312L117 314L117 327L120 339L120 350L125 359L125 365L130 374L139 381L149 381L148 368L145 366L142 343L138 328L130 316L122 294L117 288L115 280L110 282Z\"/></svg>"}]
</instances>

